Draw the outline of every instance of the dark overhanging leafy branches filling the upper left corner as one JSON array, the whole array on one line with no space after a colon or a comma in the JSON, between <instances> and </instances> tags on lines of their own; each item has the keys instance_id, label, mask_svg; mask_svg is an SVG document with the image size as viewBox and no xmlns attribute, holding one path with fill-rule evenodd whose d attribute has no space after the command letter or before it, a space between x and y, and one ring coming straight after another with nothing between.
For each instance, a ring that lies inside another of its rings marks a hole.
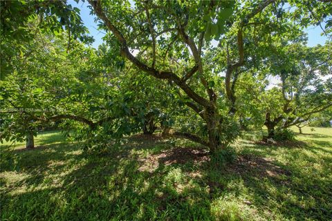
<instances>
[{"instance_id":1,"label":"dark overhanging leafy branches filling the upper left corner","mask_svg":"<svg viewBox=\"0 0 332 221\"><path fill-rule=\"evenodd\" d=\"M88 29L80 18L80 9L66 1L1 1L1 79L12 73L15 53L26 50L36 33L62 35L66 32L69 49L76 39L90 44Z\"/></svg>"}]
</instances>

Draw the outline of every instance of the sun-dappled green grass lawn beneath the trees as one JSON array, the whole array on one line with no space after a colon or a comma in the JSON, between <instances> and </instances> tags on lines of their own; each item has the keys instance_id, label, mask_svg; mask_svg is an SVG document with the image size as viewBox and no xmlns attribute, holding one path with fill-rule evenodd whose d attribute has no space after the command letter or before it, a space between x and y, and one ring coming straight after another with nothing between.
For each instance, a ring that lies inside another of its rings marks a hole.
<instances>
[{"instance_id":1,"label":"sun-dappled green grass lawn beneath the trees","mask_svg":"<svg viewBox=\"0 0 332 221\"><path fill-rule=\"evenodd\" d=\"M83 153L42 134L34 150L1 147L1 220L331 220L332 128L303 131L278 146L248 133L227 165L182 140Z\"/></svg>"}]
</instances>

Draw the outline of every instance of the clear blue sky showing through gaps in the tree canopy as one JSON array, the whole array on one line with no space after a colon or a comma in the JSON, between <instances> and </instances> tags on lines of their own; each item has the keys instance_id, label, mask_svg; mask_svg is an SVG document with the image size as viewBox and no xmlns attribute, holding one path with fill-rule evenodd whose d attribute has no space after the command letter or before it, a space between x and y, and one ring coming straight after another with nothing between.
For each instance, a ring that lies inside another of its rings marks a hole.
<instances>
[{"instance_id":1,"label":"clear blue sky showing through gaps in the tree canopy","mask_svg":"<svg viewBox=\"0 0 332 221\"><path fill-rule=\"evenodd\" d=\"M102 37L104 37L104 32L101 32L98 30L97 23L95 23L95 16L90 15L90 9L87 8L89 6L89 3L80 1L79 3L76 3L73 0L68 1L73 7L77 7L81 10L80 15L82 18L82 21L84 22L86 28L89 29L90 35L93 36L95 39L95 42L93 42L92 46L93 48L98 48L100 44L102 44ZM306 32L308 33L308 46L316 46L317 44L323 45L326 41L326 37L322 36L322 29L317 27L308 27L306 28Z\"/></svg>"}]
</instances>

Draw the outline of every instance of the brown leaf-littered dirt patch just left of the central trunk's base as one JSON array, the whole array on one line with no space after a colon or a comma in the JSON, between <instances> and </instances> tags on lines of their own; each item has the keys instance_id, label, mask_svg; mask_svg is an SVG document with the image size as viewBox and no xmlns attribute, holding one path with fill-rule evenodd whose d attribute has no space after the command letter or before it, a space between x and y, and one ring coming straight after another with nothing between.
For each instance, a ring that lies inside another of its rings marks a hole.
<instances>
[{"instance_id":1,"label":"brown leaf-littered dirt patch just left of the central trunk's base","mask_svg":"<svg viewBox=\"0 0 332 221\"><path fill-rule=\"evenodd\" d=\"M158 168L158 166L160 166L160 164L165 166L171 164L185 164L187 162L202 164L203 162L208 162L209 160L209 152L204 148L176 147L139 159L142 164L139 168L139 171L153 172Z\"/></svg>"}]
</instances>

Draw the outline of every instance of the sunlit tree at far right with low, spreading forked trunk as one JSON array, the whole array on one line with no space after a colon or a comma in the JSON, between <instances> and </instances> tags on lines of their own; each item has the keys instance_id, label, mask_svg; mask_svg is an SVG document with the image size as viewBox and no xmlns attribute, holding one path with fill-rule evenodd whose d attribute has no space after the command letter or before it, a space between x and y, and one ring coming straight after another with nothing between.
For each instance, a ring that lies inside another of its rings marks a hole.
<instances>
[{"instance_id":1,"label":"sunlit tree at far right with low, spreading forked trunk","mask_svg":"<svg viewBox=\"0 0 332 221\"><path fill-rule=\"evenodd\" d=\"M268 138L274 137L275 131L308 122L332 106L331 80L322 78L331 75L329 50L330 44L313 48L290 44L271 53L265 68L261 66L261 86L252 84L247 90L255 98L248 106L264 113L257 118L264 117ZM265 79L270 75L279 77L281 82L266 89L270 82ZM255 89L257 86L260 88Z\"/></svg>"}]
</instances>

